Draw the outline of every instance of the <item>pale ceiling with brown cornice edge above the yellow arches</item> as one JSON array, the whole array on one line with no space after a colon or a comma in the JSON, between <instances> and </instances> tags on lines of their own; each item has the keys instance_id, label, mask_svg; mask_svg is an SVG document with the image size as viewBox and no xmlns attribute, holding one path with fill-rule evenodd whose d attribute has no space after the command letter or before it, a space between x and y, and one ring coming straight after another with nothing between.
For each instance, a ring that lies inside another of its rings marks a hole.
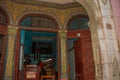
<instances>
[{"instance_id":1,"label":"pale ceiling with brown cornice edge above the yellow arches","mask_svg":"<svg viewBox=\"0 0 120 80\"><path fill-rule=\"evenodd\" d=\"M17 3L22 4L32 4L41 7L51 7L51 8L59 8L59 9L66 9L66 8L74 8L74 7L81 7L78 2L74 0L12 0Z\"/></svg>"}]
</instances>

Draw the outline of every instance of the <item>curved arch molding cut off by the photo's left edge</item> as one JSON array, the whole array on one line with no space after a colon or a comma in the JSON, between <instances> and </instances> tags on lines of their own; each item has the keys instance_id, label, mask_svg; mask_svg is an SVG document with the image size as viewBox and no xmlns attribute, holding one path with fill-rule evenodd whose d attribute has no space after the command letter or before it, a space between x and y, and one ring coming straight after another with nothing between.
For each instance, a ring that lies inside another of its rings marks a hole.
<instances>
[{"instance_id":1,"label":"curved arch molding cut off by the photo's left edge","mask_svg":"<svg viewBox=\"0 0 120 80\"><path fill-rule=\"evenodd\" d=\"M14 25L13 16L9 12L9 10L3 4L0 4L0 9L2 9L4 11L4 13L5 13L6 17L7 17L7 20L8 20L7 25Z\"/></svg>"}]
</instances>

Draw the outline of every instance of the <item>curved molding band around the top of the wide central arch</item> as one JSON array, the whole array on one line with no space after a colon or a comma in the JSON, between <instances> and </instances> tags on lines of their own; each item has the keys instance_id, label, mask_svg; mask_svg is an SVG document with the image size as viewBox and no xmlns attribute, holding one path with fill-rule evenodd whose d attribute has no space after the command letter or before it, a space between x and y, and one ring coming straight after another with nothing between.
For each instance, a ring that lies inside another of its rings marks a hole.
<instances>
[{"instance_id":1,"label":"curved molding band around the top of the wide central arch","mask_svg":"<svg viewBox=\"0 0 120 80\"><path fill-rule=\"evenodd\" d=\"M29 15L29 14L37 14L37 15L42 15L42 14L43 14L43 15L50 16L50 17L52 17L52 18L57 22L57 24L58 24L57 27L60 29L60 26L61 26L60 21L58 20L57 17L55 17L55 15L50 14L50 13L46 13L46 12L39 12L39 11L26 11L26 12L22 13L22 14L16 19L15 25L19 25L20 20L21 20L22 18L24 18L25 16Z\"/></svg>"}]
</instances>

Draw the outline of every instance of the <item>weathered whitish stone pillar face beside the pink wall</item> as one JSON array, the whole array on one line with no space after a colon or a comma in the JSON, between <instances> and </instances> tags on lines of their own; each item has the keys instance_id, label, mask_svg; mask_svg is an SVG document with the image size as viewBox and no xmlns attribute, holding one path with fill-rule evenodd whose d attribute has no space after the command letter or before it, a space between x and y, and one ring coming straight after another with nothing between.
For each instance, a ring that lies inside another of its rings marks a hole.
<instances>
[{"instance_id":1,"label":"weathered whitish stone pillar face beside the pink wall","mask_svg":"<svg viewBox=\"0 0 120 80\"><path fill-rule=\"evenodd\" d=\"M101 11L98 37L101 51L102 78L103 80L119 80L120 52L110 1L99 0L97 4Z\"/></svg>"}]
</instances>

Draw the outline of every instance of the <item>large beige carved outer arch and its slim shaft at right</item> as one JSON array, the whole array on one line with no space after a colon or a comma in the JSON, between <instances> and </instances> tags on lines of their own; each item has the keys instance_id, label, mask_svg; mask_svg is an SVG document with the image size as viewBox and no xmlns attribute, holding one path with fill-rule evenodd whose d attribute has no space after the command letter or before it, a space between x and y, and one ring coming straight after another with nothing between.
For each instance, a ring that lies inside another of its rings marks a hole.
<instances>
[{"instance_id":1,"label":"large beige carved outer arch and its slim shaft at right","mask_svg":"<svg viewBox=\"0 0 120 80\"><path fill-rule=\"evenodd\" d=\"M90 27L91 39L92 39L92 49L93 57L95 63L95 79L102 79L102 64L101 64L101 54L100 54L100 44L98 38L98 26L102 26L100 11L97 9L97 5L93 0L75 0L79 2L87 11L89 16L88 25Z\"/></svg>"}]
</instances>

